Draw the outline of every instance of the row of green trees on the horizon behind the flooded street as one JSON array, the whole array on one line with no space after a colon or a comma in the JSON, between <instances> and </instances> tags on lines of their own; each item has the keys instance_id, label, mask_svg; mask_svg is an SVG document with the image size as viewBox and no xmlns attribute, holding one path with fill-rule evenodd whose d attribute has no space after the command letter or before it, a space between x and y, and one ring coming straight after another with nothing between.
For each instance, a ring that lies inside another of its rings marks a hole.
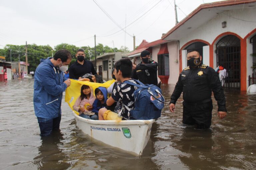
<instances>
[{"instance_id":1,"label":"row of green trees on the horizon behind the flooded street","mask_svg":"<svg viewBox=\"0 0 256 170\"><path fill-rule=\"evenodd\" d=\"M61 43L54 47L54 51L52 51L52 47L50 45L36 45L36 44L28 44L27 45L27 52L28 52L28 71L35 71L36 67L40 63L40 59L47 58L52 56L52 52L55 53L60 49L67 49L72 54L72 61L71 64L76 61L75 54L79 48L83 48L86 59L95 59L95 50L94 47L90 46L81 46L77 47L75 45L71 45L68 43ZM12 61L26 61L25 56L25 45L12 45L7 44L3 49L0 49L0 55L6 57L6 61L11 61L10 59L10 50L12 53ZM120 49L115 48L115 50L107 45L103 45L98 43L96 45L96 55L102 55L107 52L128 52L129 49L127 47L121 46ZM20 56L20 57L19 57Z\"/></svg>"}]
</instances>

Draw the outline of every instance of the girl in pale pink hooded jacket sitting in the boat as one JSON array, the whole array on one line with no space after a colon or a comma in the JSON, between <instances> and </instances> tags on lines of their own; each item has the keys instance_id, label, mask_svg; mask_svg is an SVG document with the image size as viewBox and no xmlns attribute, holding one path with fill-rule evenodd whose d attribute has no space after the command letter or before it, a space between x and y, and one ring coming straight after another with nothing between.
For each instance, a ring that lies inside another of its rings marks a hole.
<instances>
[{"instance_id":1,"label":"girl in pale pink hooded jacket sitting in the boat","mask_svg":"<svg viewBox=\"0 0 256 170\"><path fill-rule=\"evenodd\" d=\"M91 115L92 105L95 101L95 97L93 96L93 90L87 85L82 85L81 87L81 95L76 99L75 104L73 105L73 109L79 112L79 116L98 120L98 114ZM88 114L86 114L88 112Z\"/></svg>"}]
</instances>

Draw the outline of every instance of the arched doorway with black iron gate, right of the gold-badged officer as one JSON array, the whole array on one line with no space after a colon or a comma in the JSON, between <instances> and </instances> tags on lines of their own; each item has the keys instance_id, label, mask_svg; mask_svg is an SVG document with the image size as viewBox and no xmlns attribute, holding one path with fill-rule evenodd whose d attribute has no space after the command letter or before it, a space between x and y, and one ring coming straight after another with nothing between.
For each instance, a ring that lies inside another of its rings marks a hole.
<instances>
[{"instance_id":1,"label":"arched doorway with black iron gate, right of the gold-badged officer","mask_svg":"<svg viewBox=\"0 0 256 170\"><path fill-rule=\"evenodd\" d=\"M241 43L233 35L223 37L216 46L217 65L227 70L227 77L223 79L226 88L240 89L241 83Z\"/></svg>"}]
</instances>

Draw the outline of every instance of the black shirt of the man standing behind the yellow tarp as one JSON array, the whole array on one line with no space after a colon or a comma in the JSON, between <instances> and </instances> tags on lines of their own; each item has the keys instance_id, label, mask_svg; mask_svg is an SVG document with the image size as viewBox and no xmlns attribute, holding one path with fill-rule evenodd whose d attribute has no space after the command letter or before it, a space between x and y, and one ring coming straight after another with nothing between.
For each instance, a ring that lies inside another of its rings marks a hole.
<instances>
[{"instance_id":1,"label":"black shirt of the man standing behind the yellow tarp","mask_svg":"<svg viewBox=\"0 0 256 170\"><path fill-rule=\"evenodd\" d=\"M82 77L86 73L89 74L97 74L93 64L89 60L84 60L84 64L79 64L76 60L70 67L69 67L69 78L71 79L78 79L79 77Z\"/></svg>"}]
</instances>

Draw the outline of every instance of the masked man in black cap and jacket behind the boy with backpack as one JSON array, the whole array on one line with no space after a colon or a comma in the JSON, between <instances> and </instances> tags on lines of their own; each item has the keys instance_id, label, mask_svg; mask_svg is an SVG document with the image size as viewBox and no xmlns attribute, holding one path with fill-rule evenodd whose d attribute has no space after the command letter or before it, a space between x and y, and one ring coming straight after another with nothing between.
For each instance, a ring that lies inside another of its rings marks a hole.
<instances>
[{"instance_id":1,"label":"masked man in black cap and jacket behind the boy with backpack","mask_svg":"<svg viewBox=\"0 0 256 170\"><path fill-rule=\"evenodd\" d=\"M157 86L157 62L150 60L150 52L144 50L140 54L139 63L132 72L132 78L141 81L143 84L154 84Z\"/></svg>"}]
</instances>

